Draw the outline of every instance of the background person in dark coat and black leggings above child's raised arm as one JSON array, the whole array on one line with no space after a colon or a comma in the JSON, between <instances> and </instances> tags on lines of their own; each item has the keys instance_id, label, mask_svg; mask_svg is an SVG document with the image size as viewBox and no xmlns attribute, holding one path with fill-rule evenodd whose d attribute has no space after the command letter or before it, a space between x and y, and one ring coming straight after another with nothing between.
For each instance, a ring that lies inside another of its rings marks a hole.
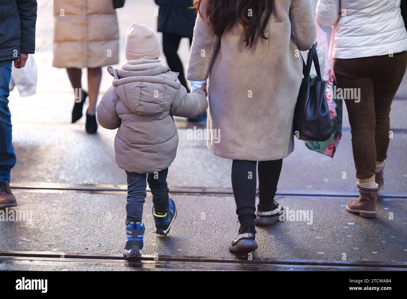
<instances>
[{"instance_id":1,"label":"background person in dark coat and black leggings above child's raised arm","mask_svg":"<svg viewBox=\"0 0 407 299\"><path fill-rule=\"evenodd\" d=\"M190 46L192 44L195 19L197 18L195 10L190 9L193 6L193 0L155 0L155 3L160 6L158 32L162 32L162 48L168 66L173 72L179 73L179 82L190 92L185 79L184 67L177 51L182 37L187 37ZM206 113L203 113L188 118L188 120L196 122L205 118Z\"/></svg>"}]
</instances>

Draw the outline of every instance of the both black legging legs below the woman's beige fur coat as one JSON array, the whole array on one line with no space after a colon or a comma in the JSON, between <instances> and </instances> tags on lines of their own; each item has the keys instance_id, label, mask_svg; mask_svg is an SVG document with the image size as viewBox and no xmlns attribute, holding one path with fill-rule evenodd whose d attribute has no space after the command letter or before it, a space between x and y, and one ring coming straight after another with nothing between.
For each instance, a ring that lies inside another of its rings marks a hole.
<instances>
[{"instance_id":1,"label":"both black legging legs below the woman's beige fur coat","mask_svg":"<svg viewBox=\"0 0 407 299\"><path fill-rule=\"evenodd\" d=\"M233 160L232 188L236 214L241 226L254 225L256 219L256 161ZM258 162L258 210L271 211L277 191L282 159Z\"/></svg>"}]
</instances>

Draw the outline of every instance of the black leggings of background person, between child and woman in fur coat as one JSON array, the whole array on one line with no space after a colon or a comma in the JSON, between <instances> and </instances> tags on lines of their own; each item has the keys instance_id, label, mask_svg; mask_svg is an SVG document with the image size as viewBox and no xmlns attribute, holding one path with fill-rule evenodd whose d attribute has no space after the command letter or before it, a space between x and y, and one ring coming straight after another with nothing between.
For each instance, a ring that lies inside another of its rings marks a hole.
<instances>
[{"instance_id":1,"label":"black leggings of background person, between child and woman in fur coat","mask_svg":"<svg viewBox=\"0 0 407 299\"><path fill-rule=\"evenodd\" d=\"M168 66L173 72L179 73L179 82L186 88L188 93L190 92L188 85L186 85L186 79L184 74L184 66L182 65L181 59L178 56L179 42L182 37L179 35L163 33L162 34L162 48L164 51L165 58L167 59ZM189 44L192 44L192 37L189 38Z\"/></svg>"}]
</instances>

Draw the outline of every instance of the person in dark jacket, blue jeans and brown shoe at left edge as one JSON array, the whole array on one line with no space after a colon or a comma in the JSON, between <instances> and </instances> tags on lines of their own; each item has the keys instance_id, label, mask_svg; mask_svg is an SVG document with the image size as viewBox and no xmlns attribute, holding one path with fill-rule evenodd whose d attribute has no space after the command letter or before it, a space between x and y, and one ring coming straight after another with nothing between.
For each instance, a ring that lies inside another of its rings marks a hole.
<instances>
[{"instance_id":1,"label":"person in dark jacket, blue jeans and brown shoe at left edge","mask_svg":"<svg viewBox=\"0 0 407 299\"><path fill-rule=\"evenodd\" d=\"M36 20L36 0L0 2L0 208L17 205L10 190L10 170L16 161L8 100L11 63L24 68L28 54L34 53Z\"/></svg>"}]
</instances>

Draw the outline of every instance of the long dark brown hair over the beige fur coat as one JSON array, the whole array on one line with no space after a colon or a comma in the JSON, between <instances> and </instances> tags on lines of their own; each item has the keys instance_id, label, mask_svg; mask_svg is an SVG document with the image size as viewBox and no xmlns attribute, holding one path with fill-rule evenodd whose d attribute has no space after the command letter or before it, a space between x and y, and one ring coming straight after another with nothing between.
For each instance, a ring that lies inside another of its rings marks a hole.
<instances>
[{"instance_id":1,"label":"long dark brown hair over the beige fur coat","mask_svg":"<svg viewBox=\"0 0 407 299\"><path fill-rule=\"evenodd\" d=\"M246 47L252 47L259 36L267 39L264 31L273 11L273 0L194 0L193 9L196 9L198 13L201 13L199 7L202 1L206 1L206 17L217 36L221 36L225 31L230 31L236 21L240 19L245 28ZM250 9L251 15L249 16ZM265 13L264 18L262 18L263 13Z\"/></svg>"}]
</instances>

